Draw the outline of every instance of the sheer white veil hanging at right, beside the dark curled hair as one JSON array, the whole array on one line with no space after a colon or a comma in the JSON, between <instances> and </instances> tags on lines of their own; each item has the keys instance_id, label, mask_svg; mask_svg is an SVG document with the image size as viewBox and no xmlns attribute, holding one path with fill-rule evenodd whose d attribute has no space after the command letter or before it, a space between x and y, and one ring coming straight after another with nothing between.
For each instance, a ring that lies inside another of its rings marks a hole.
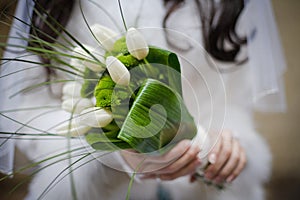
<instances>
[{"instance_id":1,"label":"sheer white veil hanging at right, beside the dark curled hair","mask_svg":"<svg viewBox=\"0 0 300 200\"><path fill-rule=\"evenodd\" d=\"M246 1L248 56L254 107L260 111L286 110L283 74L286 63L270 0Z\"/></svg>"}]
</instances>

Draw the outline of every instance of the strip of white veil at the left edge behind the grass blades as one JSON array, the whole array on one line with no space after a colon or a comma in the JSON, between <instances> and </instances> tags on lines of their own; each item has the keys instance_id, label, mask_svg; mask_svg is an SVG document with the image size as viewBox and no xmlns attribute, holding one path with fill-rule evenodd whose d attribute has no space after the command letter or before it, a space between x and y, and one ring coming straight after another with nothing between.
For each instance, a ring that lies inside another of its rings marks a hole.
<instances>
[{"instance_id":1,"label":"strip of white veil at the left edge behind the grass blades","mask_svg":"<svg viewBox=\"0 0 300 200\"><path fill-rule=\"evenodd\" d=\"M33 8L33 2L32 1L19 1L18 6L16 8L15 17L17 19L13 20L12 28L10 30L10 38L8 39L7 43L12 45L22 45L26 46L27 42L26 40L16 39L14 37L27 37L27 32L29 31L29 26L26 26L23 22L19 20L23 20L25 23L30 23L30 16L31 11ZM6 51L4 52L3 58L16 58L17 56L21 55L19 48L13 48L8 47L10 52ZM0 68L0 76L4 76L6 74L12 73L16 71L15 65L18 65L17 62L10 61L6 62L3 61L1 68ZM18 69L21 69L22 67L18 67ZM16 113L4 113L3 111L9 110L9 109L15 109L15 105L20 104L20 96L17 95L14 98L9 98L11 94L13 94L13 91L17 92L22 87L21 84L17 84L13 86L13 83L18 83L22 80L22 74L13 74L6 77L0 78L0 113L4 114L7 117L10 117L12 119L15 118ZM9 88L10 87L10 88ZM8 118L4 116L0 116L0 131L3 132L14 132L16 130L16 127L20 126L20 124L12 122L12 120L9 120ZM13 160L14 160L14 141L13 139L5 138L10 137L10 135L1 135L0 138L0 172L2 173L11 173L13 170Z\"/></svg>"}]
</instances>

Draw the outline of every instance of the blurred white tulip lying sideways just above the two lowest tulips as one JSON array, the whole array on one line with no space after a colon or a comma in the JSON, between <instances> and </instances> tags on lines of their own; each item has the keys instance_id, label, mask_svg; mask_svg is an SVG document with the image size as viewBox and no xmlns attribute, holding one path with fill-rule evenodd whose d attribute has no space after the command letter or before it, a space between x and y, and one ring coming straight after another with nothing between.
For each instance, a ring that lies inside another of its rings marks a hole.
<instances>
[{"instance_id":1,"label":"blurred white tulip lying sideways just above the two lowest tulips","mask_svg":"<svg viewBox=\"0 0 300 200\"><path fill-rule=\"evenodd\" d=\"M94 104L90 99L87 98L72 98L72 99L66 99L62 103L62 109L70 112L78 114L82 112L86 108L93 107Z\"/></svg>"}]
</instances>

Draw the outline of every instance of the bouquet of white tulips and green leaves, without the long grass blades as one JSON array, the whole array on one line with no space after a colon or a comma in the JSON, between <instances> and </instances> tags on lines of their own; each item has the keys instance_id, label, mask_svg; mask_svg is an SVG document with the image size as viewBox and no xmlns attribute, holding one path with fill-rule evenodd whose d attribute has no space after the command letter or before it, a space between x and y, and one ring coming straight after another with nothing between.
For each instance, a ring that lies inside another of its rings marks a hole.
<instances>
[{"instance_id":1,"label":"bouquet of white tulips and green leaves, without the long grass blades","mask_svg":"<svg viewBox=\"0 0 300 200\"><path fill-rule=\"evenodd\" d=\"M182 139L192 139L197 129L181 96L176 54L148 46L135 28L119 39L99 24L91 30L107 50L93 60L95 49L74 48L73 55L82 60L70 62L83 72L83 80L63 87L62 108L75 119L58 133L85 135L96 150L140 153L162 153Z\"/></svg>"}]
</instances>

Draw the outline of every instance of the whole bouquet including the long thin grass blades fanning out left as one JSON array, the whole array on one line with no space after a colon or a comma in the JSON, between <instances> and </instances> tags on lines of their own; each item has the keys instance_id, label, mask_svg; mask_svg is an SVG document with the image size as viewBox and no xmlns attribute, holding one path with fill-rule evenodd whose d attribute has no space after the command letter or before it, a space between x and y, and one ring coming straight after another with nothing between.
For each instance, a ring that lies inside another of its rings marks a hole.
<instances>
[{"instance_id":1,"label":"whole bouquet including the long thin grass blades fanning out left","mask_svg":"<svg viewBox=\"0 0 300 200\"><path fill-rule=\"evenodd\" d=\"M46 12L45 14L48 16ZM41 13L39 15L42 16ZM126 28L126 33L119 36L99 24L89 26L97 41L96 48L91 47L77 41L51 16L48 17L55 24L49 24L49 27L53 31L62 29L71 42L51 43L33 34L29 39L16 39L26 40L34 45L11 46L48 58L51 60L50 64L30 62L62 71L68 76L63 80L49 80L32 85L19 92L61 82L63 87L60 107L69 112L71 117L56 127L55 133L43 131L38 135L34 134L34 137L46 136L45 140L49 136L70 140L84 138L96 151L133 149L150 155L164 154L179 141L195 138L197 132L198 139L200 137L201 140L197 142L203 142L206 135L197 130L182 97L181 65L175 53L151 46L135 28ZM10 44L1 46L10 47ZM3 58L2 61L28 62L22 57ZM2 75L2 78L5 76ZM4 116L6 112L8 111L1 111L1 115ZM13 135L10 138L18 135L33 136L28 133L19 134L18 131L7 134ZM1 180L70 152L41 159ZM70 173L71 166L72 164ZM198 176L202 177L199 173Z\"/></svg>"}]
</instances>

